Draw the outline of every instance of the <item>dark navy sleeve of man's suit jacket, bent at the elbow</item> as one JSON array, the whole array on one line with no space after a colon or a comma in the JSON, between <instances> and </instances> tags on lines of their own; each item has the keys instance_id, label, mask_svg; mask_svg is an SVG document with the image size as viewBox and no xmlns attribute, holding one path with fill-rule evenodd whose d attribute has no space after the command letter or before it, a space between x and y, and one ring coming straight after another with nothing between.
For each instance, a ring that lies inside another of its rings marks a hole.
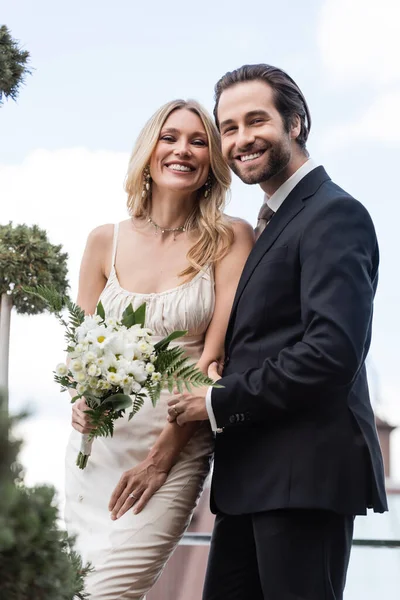
<instances>
[{"instance_id":1,"label":"dark navy sleeve of man's suit jacket, bent at the elbow","mask_svg":"<svg viewBox=\"0 0 400 600\"><path fill-rule=\"evenodd\" d=\"M331 200L300 241L301 341L212 391L218 427L306 410L351 385L370 343L378 245L366 209ZM242 310L245 310L242 308Z\"/></svg>"}]
</instances>

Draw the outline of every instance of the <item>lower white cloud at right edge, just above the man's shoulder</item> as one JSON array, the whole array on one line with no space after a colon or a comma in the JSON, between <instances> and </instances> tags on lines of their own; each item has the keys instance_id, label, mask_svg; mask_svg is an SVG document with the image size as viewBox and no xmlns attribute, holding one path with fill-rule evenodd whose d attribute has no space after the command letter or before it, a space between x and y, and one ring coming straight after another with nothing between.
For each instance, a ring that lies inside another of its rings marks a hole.
<instances>
[{"instance_id":1,"label":"lower white cloud at right edge, just above the man's shoulder","mask_svg":"<svg viewBox=\"0 0 400 600\"><path fill-rule=\"evenodd\" d=\"M330 126L324 144L332 150L360 141L400 146L399 106L400 89L378 96L357 120Z\"/></svg>"}]
</instances>

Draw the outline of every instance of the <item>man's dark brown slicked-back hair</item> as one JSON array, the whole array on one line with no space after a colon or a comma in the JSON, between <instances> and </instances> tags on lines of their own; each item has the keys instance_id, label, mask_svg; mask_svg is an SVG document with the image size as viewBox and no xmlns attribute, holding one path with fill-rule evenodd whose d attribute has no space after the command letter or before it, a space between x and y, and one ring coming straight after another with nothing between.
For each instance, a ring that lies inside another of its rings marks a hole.
<instances>
[{"instance_id":1,"label":"man's dark brown slicked-back hair","mask_svg":"<svg viewBox=\"0 0 400 600\"><path fill-rule=\"evenodd\" d=\"M290 131L294 117L299 117L301 129L296 141L303 150L306 150L306 142L311 129L311 115L306 99L296 82L285 71L272 65L244 65L221 77L214 88L214 118L217 127L219 128L218 104L222 92L237 83L257 80L264 81L272 88L275 107L282 117L287 132Z\"/></svg>"}]
</instances>

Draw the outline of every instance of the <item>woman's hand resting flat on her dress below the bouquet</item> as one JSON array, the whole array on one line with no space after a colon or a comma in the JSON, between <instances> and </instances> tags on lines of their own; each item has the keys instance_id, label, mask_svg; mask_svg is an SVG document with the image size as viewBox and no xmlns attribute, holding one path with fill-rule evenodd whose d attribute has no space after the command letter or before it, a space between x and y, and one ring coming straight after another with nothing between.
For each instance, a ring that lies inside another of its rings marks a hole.
<instances>
[{"instance_id":1,"label":"woman's hand resting flat on her dress below the bouquet","mask_svg":"<svg viewBox=\"0 0 400 600\"><path fill-rule=\"evenodd\" d=\"M108 505L111 519L119 519L131 508L134 508L135 514L139 513L165 483L167 477L168 472L162 471L150 458L125 471Z\"/></svg>"}]
</instances>

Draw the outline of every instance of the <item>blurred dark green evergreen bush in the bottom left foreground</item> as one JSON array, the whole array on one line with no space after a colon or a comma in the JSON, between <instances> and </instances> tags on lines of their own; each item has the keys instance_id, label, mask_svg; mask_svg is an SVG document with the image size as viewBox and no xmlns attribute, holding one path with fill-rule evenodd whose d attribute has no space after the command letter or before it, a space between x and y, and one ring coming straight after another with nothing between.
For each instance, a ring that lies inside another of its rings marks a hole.
<instances>
[{"instance_id":1,"label":"blurred dark green evergreen bush in the bottom left foreground","mask_svg":"<svg viewBox=\"0 0 400 600\"><path fill-rule=\"evenodd\" d=\"M24 485L17 464L20 442L0 398L0 598L73 600L83 592L89 566L82 566L74 540L58 525L54 488Z\"/></svg>"}]
</instances>

